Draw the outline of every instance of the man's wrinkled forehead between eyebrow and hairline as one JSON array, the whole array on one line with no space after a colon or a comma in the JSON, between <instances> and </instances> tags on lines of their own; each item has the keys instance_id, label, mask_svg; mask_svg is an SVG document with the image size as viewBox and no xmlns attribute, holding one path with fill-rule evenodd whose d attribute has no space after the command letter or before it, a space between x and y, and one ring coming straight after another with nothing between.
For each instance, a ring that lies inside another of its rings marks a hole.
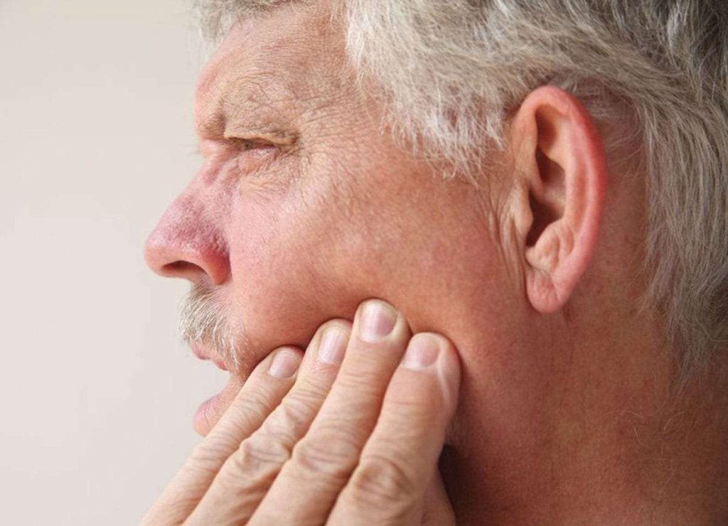
<instances>
[{"instance_id":1,"label":"man's wrinkled forehead between eyebrow and hairline","mask_svg":"<svg viewBox=\"0 0 728 526\"><path fill-rule=\"evenodd\" d=\"M293 4L237 23L199 77L198 129L236 113L278 113L333 95L344 63L341 35L331 17Z\"/></svg>"}]
</instances>

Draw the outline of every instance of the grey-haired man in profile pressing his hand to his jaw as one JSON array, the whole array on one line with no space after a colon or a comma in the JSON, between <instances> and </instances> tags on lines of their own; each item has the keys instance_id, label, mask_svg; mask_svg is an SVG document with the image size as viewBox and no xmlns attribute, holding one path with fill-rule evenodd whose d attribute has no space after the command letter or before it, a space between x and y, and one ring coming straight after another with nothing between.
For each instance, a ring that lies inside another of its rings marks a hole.
<instances>
[{"instance_id":1,"label":"grey-haired man in profile pressing his hand to his jaw","mask_svg":"<svg viewBox=\"0 0 728 526\"><path fill-rule=\"evenodd\" d=\"M148 522L728 521L727 4L207 23L146 255L231 378Z\"/></svg>"}]
</instances>

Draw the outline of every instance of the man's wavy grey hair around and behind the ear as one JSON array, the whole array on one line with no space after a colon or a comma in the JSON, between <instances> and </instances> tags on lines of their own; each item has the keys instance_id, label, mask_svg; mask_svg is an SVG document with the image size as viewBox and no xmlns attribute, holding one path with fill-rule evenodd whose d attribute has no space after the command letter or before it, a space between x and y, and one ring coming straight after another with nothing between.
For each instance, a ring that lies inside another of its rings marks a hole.
<instances>
[{"instance_id":1,"label":"man's wavy grey hair around and behind the ear","mask_svg":"<svg viewBox=\"0 0 728 526\"><path fill-rule=\"evenodd\" d=\"M219 30L221 15L282 1L207 1L207 21ZM332 4L346 16L352 64L381 86L397 136L421 151L470 166L483 145L502 146L507 111L543 84L635 137L646 175L646 303L665 319L684 372L716 357L728 343L727 2Z\"/></svg>"}]
</instances>

